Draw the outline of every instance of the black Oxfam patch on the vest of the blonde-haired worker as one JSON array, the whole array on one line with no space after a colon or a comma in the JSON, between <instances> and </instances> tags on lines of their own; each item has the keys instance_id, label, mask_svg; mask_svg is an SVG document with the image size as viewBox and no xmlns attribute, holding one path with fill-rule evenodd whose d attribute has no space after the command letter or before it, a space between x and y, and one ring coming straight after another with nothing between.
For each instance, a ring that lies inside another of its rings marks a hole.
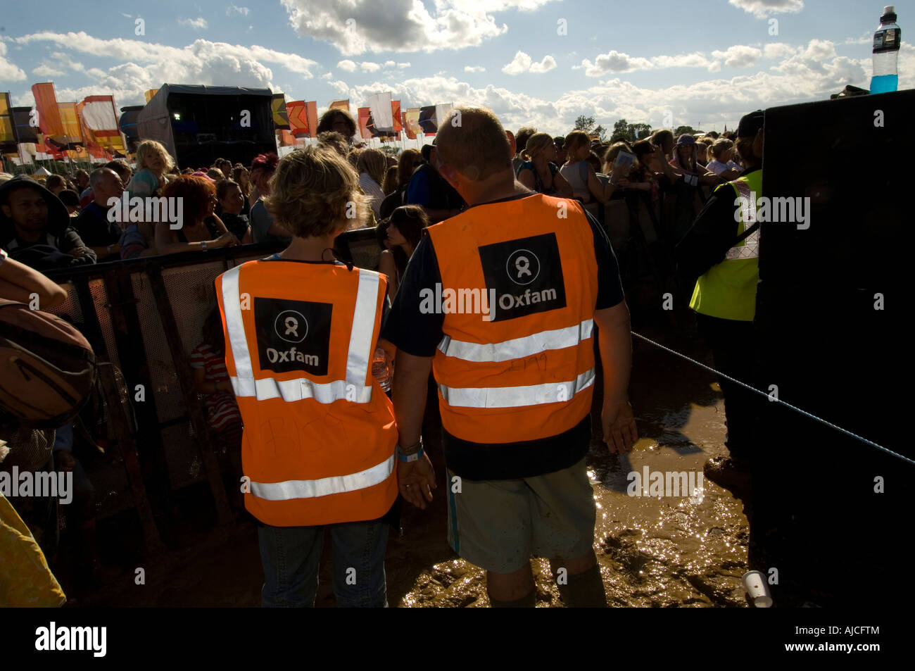
<instances>
[{"instance_id":1,"label":"black Oxfam patch on the vest of the blonde-haired worker","mask_svg":"<svg viewBox=\"0 0 915 671\"><path fill-rule=\"evenodd\" d=\"M332 303L254 297L262 371L328 374Z\"/></svg>"}]
</instances>

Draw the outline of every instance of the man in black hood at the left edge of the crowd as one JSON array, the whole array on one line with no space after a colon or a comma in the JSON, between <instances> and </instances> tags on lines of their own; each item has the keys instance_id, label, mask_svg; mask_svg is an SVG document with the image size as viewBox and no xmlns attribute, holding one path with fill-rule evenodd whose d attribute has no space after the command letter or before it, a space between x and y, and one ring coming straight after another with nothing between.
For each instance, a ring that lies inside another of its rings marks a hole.
<instances>
[{"instance_id":1,"label":"man in black hood at the left edge of the crowd","mask_svg":"<svg viewBox=\"0 0 915 671\"><path fill-rule=\"evenodd\" d=\"M60 199L26 175L0 185L0 247L38 270L95 263Z\"/></svg>"}]
</instances>

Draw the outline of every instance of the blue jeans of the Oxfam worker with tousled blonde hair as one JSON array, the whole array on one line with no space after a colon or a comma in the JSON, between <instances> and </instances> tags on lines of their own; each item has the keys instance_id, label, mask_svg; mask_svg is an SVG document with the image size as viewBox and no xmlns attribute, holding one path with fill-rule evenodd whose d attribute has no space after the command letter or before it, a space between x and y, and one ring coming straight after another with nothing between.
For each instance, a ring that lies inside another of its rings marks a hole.
<instances>
[{"instance_id":1,"label":"blue jeans of the Oxfam worker with tousled blonde hair","mask_svg":"<svg viewBox=\"0 0 915 671\"><path fill-rule=\"evenodd\" d=\"M324 526L258 526L264 565L264 608L313 608L324 529L333 543L333 584L338 608L387 608L385 522Z\"/></svg>"}]
</instances>

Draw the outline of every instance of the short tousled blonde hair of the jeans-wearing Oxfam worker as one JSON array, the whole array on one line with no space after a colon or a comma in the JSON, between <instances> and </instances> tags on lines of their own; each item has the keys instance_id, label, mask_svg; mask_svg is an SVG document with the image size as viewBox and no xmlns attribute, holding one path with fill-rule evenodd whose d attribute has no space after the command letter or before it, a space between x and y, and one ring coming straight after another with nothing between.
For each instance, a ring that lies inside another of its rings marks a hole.
<instances>
[{"instance_id":1,"label":"short tousled blonde hair of the jeans-wearing Oxfam worker","mask_svg":"<svg viewBox=\"0 0 915 671\"><path fill-rule=\"evenodd\" d=\"M270 178L267 211L289 233L302 238L360 228L368 219L369 199L359 175L333 149L307 146L280 159Z\"/></svg>"}]
</instances>

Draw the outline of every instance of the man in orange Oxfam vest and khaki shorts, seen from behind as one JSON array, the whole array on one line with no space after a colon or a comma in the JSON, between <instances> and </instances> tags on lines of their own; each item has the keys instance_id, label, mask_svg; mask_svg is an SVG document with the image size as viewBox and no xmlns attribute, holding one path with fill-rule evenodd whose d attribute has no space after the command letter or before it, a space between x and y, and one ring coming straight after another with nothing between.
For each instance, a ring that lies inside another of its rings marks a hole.
<instances>
[{"instance_id":1,"label":"man in orange Oxfam vest and khaki shorts, seen from behind","mask_svg":"<svg viewBox=\"0 0 915 671\"><path fill-rule=\"evenodd\" d=\"M400 491L425 508L436 486L420 440L431 368L449 541L487 570L490 603L533 607L535 555L550 558L566 605L606 606L585 460L595 338L604 439L622 453L637 438L616 258L575 200L516 182L505 131L489 110L459 107L436 145L436 168L469 207L427 229L383 332L398 348Z\"/></svg>"}]
</instances>

